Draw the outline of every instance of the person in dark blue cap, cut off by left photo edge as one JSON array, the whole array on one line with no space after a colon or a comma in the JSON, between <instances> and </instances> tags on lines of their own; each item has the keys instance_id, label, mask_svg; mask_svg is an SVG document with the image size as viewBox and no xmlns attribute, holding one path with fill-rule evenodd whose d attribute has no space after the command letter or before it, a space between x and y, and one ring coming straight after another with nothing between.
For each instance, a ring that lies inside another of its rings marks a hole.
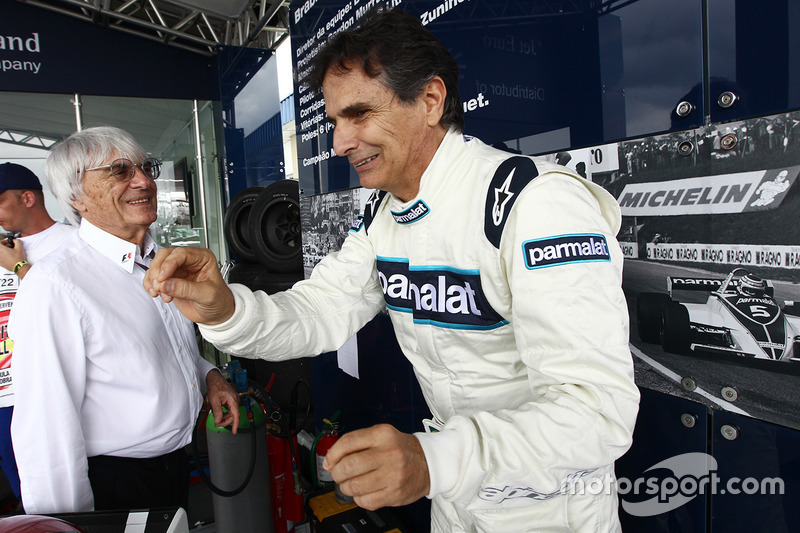
<instances>
[{"instance_id":1,"label":"person in dark blue cap, cut off by left photo edge","mask_svg":"<svg viewBox=\"0 0 800 533\"><path fill-rule=\"evenodd\" d=\"M20 500L19 474L11 442L14 343L8 336L8 316L20 280L30 270L31 263L53 251L74 228L50 217L39 178L16 163L0 164L0 226L7 233L0 242L0 464L14 496Z\"/></svg>"}]
</instances>

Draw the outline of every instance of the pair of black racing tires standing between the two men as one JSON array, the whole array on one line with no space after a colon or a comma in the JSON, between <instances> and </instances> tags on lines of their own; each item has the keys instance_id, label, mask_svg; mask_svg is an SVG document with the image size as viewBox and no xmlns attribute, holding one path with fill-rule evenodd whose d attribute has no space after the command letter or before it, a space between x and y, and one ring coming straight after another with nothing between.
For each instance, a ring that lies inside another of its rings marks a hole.
<instances>
[{"instance_id":1,"label":"pair of black racing tires standing between the two men","mask_svg":"<svg viewBox=\"0 0 800 533\"><path fill-rule=\"evenodd\" d=\"M303 278L300 193L294 180L249 187L225 213L225 238L237 264L228 281L268 293Z\"/></svg>"}]
</instances>

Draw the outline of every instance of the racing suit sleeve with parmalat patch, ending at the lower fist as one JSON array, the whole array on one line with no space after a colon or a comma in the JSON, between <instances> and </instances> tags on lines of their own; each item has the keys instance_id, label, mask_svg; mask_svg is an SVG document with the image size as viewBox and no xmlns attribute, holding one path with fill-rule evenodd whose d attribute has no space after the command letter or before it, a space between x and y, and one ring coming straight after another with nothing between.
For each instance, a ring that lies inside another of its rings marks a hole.
<instances>
[{"instance_id":1,"label":"racing suit sleeve with parmalat patch, ending at the lower fist","mask_svg":"<svg viewBox=\"0 0 800 533\"><path fill-rule=\"evenodd\" d=\"M520 194L500 261L531 399L513 410L455 416L439 433L416 434L430 468L429 497L475 508L501 502L504 489L557 494L628 449L639 393L616 226L574 178L541 175ZM601 235L610 260L526 264L524 243L569 235Z\"/></svg>"}]
</instances>

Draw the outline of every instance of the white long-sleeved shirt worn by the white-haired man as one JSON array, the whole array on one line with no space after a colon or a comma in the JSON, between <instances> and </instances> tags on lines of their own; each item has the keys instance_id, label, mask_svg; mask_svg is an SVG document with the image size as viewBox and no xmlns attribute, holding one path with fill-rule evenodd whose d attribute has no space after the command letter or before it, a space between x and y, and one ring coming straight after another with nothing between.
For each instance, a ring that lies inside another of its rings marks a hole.
<instances>
[{"instance_id":1,"label":"white long-sleeved shirt worn by the white-haired man","mask_svg":"<svg viewBox=\"0 0 800 533\"><path fill-rule=\"evenodd\" d=\"M191 322L142 288L156 249L149 235L140 251L83 220L25 277L9 326L28 513L93 510L87 457L156 457L191 442L215 367Z\"/></svg>"}]
</instances>

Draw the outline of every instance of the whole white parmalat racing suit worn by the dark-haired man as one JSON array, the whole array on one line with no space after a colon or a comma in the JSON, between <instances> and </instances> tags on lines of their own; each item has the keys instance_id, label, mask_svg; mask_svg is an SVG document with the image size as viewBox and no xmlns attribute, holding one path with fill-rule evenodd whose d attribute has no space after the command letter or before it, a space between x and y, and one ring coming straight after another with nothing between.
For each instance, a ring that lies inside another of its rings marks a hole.
<instances>
[{"instance_id":1,"label":"whole white parmalat racing suit worn by the dark-haired man","mask_svg":"<svg viewBox=\"0 0 800 533\"><path fill-rule=\"evenodd\" d=\"M441 430L418 433L432 531L618 531L631 443L613 197L570 170L449 132L401 203L373 194L342 249L267 296L232 285L201 327L273 360L338 349L384 307Z\"/></svg>"}]
</instances>

